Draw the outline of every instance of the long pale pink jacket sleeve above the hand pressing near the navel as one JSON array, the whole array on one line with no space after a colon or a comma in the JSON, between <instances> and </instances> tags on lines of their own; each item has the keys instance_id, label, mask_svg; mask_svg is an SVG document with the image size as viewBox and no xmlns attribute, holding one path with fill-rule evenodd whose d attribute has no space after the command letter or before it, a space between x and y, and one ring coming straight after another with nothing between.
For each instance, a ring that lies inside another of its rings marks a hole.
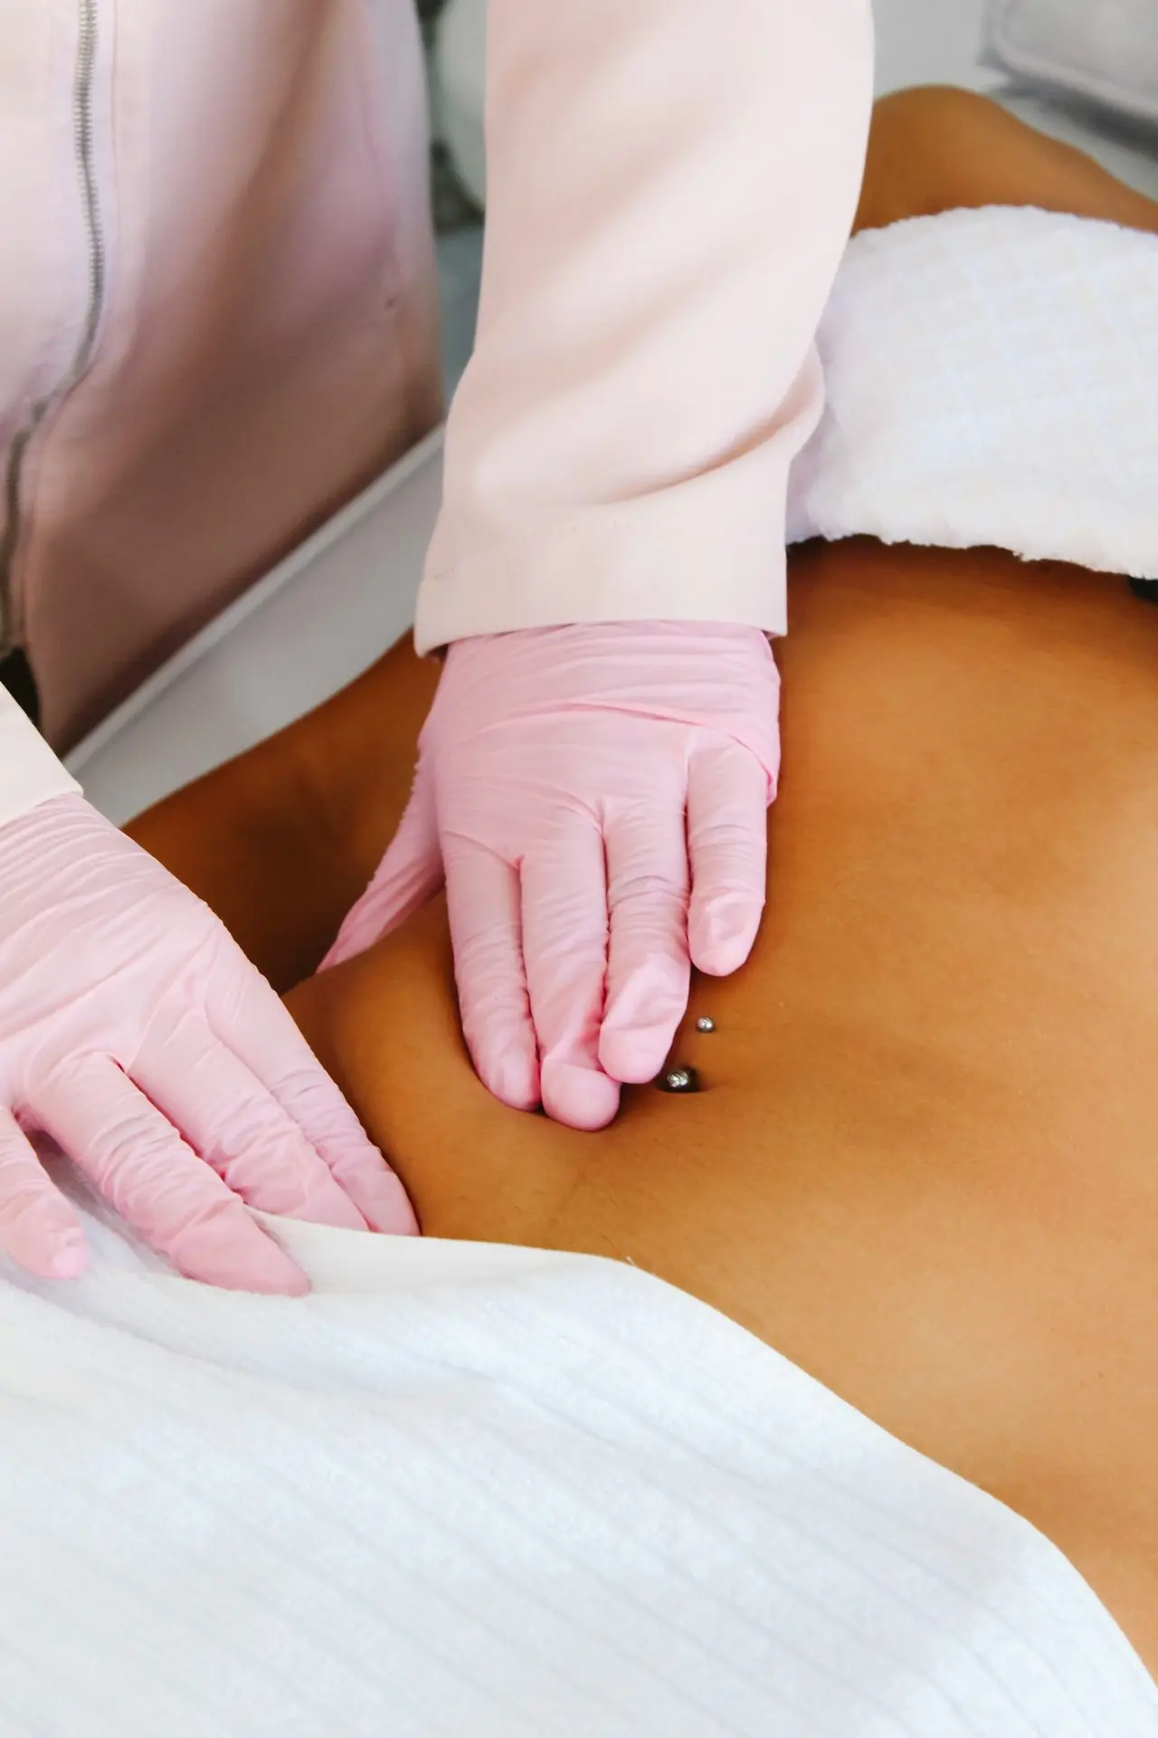
<instances>
[{"instance_id":1,"label":"long pale pink jacket sleeve above the hand pressing near the navel","mask_svg":"<svg viewBox=\"0 0 1158 1738\"><path fill-rule=\"evenodd\" d=\"M420 650L594 620L783 633L872 68L870 0L491 0L483 306Z\"/></svg>"}]
</instances>

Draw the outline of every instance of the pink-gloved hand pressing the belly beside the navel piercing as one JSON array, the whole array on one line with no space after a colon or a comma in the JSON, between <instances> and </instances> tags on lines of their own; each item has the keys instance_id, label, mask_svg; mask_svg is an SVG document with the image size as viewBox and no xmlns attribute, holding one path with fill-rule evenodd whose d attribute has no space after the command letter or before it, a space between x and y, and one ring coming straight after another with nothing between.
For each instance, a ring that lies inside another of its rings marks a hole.
<instances>
[{"instance_id":1,"label":"pink-gloved hand pressing the belly beside the navel piercing","mask_svg":"<svg viewBox=\"0 0 1158 1738\"><path fill-rule=\"evenodd\" d=\"M446 879L490 1090L602 1128L764 909L780 678L753 627L627 622L455 643L410 806L323 968ZM542 1060L540 1060L542 1058Z\"/></svg>"}]
</instances>

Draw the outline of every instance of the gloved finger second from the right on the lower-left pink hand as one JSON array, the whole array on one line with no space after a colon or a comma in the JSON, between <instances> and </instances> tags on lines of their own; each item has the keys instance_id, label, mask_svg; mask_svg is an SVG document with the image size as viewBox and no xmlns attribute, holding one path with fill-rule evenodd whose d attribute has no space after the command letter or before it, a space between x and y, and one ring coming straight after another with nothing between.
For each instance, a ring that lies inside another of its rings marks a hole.
<instances>
[{"instance_id":1,"label":"gloved finger second from the right on the lower-left pink hand","mask_svg":"<svg viewBox=\"0 0 1158 1738\"><path fill-rule=\"evenodd\" d=\"M132 1079L247 1206L366 1229L297 1123L200 1015L151 1034Z\"/></svg>"}]
</instances>

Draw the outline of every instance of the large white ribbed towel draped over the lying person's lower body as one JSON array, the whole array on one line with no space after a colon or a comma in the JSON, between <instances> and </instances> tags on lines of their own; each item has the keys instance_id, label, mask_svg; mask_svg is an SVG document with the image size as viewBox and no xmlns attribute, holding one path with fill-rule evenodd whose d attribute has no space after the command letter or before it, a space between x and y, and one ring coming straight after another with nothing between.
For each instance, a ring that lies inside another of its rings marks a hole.
<instances>
[{"instance_id":1,"label":"large white ribbed towel draped over the lying person's lower body","mask_svg":"<svg viewBox=\"0 0 1158 1738\"><path fill-rule=\"evenodd\" d=\"M587 1257L0 1277L3 1738L1155 1738L1031 1526Z\"/></svg>"}]
</instances>

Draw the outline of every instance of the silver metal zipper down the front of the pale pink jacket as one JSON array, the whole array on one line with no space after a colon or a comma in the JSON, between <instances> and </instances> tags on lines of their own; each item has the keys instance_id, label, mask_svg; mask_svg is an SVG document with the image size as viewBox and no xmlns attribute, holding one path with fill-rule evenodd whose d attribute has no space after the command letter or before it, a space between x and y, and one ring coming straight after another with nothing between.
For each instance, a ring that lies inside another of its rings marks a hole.
<instances>
[{"instance_id":1,"label":"silver metal zipper down the front of the pale pink jacket","mask_svg":"<svg viewBox=\"0 0 1158 1738\"><path fill-rule=\"evenodd\" d=\"M106 249L101 196L97 193L95 153L92 143L92 87L97 68L97 3L76 0L76 68L73 73L73 156L80 189L80 210L87 247L87 304L85 318L64 375L42 398L36 398L9 447L3 478L5 530L0 539L0 657L16 645L16 610L12 598L12 568L21 539L21 483L28 448L43 419L83 379L92 365L97 328L104 311Z\"/></svg>"}]
</instances>

